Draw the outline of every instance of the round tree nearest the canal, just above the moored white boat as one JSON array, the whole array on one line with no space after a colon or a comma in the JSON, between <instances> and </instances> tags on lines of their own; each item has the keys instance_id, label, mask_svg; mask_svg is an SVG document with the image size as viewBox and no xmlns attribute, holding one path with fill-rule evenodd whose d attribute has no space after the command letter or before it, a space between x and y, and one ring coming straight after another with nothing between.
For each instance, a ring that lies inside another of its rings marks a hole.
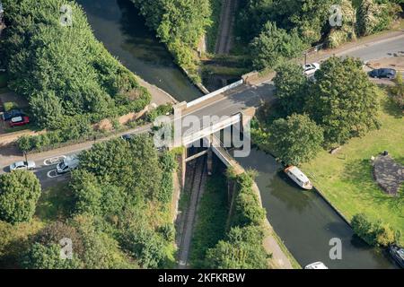
<instances>
[{"instance_id":1,"label":"round tree nearest the canal, just above the moored white boat","mask_svg":"<svg viewBox=\"0 0 404 287\"><path fill-rule=\"evenodd\" d=\"M294 114L269 126L268 143L286 164L310 161L321 149L323 130L307 115Z\"/></svg>"}]
</instances>

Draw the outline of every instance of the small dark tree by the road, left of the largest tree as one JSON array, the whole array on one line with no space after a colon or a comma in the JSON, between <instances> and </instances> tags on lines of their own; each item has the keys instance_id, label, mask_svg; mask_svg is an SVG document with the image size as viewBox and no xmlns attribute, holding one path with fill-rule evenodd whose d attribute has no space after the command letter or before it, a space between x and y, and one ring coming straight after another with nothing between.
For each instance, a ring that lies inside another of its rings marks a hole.
<instances>
[{"instance_id":1,"label":"small dark tree by the road, left of the largest tree","mask_svg":"<svg viewBox=\"0 0 404 287\"><path fill-rule=\"evenodd\" d=\"M275 95L279 106L285 115L301 113L304 108L307 77L303 74L302 66L285 63L276 69L274 83L277 87Z\"/></svg>"}]
</instances>

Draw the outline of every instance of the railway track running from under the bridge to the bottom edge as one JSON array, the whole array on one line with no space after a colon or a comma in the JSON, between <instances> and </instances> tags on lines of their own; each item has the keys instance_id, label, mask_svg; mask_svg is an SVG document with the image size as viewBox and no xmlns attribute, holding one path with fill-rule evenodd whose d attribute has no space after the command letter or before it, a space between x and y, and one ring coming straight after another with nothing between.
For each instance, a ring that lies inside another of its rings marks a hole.
<instances>
[{"instance_id":1,"label":"railway track running from under the bridge to the bottom edge","mask_svg":"<svg viewBox=\"0 0 404 287\"><path fill-rule=\"evenodd\" d=\"M189 163L189 180L186 185L190 191L189 206L183 216L181 224L180 247L179 247L179 265L180 269L189 267L189 249L192 239L192 230L194 228L197 216L198 203L202 195L204 183L206 181L206 156Z\"/></svg>"}]
</instances>

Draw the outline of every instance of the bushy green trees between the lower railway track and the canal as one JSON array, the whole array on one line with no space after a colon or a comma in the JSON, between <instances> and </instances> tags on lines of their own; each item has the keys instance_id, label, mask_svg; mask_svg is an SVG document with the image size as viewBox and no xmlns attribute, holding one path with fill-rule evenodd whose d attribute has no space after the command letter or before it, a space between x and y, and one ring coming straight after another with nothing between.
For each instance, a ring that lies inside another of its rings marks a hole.
<instances>
[{"instance_id":1,"label":"bushy green trees between the lower railway track and the canal","mask_svg":"<svg viewBox=\"0 0 404 287\"><path fill-rule=\"evenodd\" d=\"M254 174L234 176L230 171L229 177L237 186L229 213L230 229L225 239L206 251L205 265L218 269L267 269L270 255L263 247L266 212L252 187Z\"/></svg>"}]
</instances>

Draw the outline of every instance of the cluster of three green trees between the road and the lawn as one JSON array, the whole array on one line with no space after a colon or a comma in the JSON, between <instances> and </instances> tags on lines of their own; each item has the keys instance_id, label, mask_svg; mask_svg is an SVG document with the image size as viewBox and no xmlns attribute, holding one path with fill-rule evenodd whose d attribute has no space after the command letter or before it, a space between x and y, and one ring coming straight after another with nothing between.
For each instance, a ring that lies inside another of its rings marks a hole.
<instances>
[{"instance_id":1,"label":"cluster of three green trees between the road and the lawn","mask_svg":"<svg viewBox=\"0 0 404 287\"><path fill-rule=\"evenodd\" d=\"M381 91L362 65L352 57L330 57L315 81L303 75L299 65L280 66L274 79L277 117L264 115L253 127L259 143L286 164L300 164L321 146L336 147L379 128Z\"/></svg>"}]
</instances>

